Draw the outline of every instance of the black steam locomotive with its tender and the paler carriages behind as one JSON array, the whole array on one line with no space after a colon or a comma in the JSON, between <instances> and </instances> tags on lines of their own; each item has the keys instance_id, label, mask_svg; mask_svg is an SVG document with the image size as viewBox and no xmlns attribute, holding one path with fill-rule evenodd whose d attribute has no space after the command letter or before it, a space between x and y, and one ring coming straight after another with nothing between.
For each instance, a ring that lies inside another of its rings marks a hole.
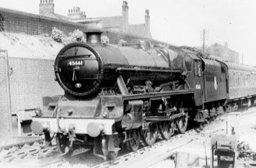
<instances>
[{"instance_id":1,"label":"black steam locomotive with its tender and the paler carriages behind","mask_svg":"<svg viewBox=\"0 0 256 168\"><path fill-rule=\"evenodd\" d=\"M114 159L124 145L152 146L160 133L184 133L188 119L205 122L240 105L255 104L256 69L209 60L195 50L144 41L115 46L101 32L70 43L56 57L54 72L65 95L44 99L31 129L51 133L62 155L91 149Z\"/></svg>"}]
</instances>

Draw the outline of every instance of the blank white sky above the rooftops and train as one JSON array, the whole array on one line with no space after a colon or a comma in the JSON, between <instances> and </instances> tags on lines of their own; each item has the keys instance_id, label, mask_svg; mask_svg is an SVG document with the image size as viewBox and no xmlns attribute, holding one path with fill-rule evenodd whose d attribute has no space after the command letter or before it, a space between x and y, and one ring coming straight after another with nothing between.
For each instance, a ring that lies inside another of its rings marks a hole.
<instances>
[{"instance_id":1,"label":"blank white sky above the rooftops and train","mask_svg":"<svg viewBox=\"0 0 256 168\"><path fill-rule=\"evenodd\" d=\"M0 0L0 7L38 14L40 0ZM54 0L54 10L67 15L79 6L87 17L121 15L122 0ZM177 46L228 43L244 56L244 64L256 66L255 0L128 0L129 23L144 23L149 9L154 39ZM240 59L241 60L241 59Z\"/></svg>"}]
</instances>

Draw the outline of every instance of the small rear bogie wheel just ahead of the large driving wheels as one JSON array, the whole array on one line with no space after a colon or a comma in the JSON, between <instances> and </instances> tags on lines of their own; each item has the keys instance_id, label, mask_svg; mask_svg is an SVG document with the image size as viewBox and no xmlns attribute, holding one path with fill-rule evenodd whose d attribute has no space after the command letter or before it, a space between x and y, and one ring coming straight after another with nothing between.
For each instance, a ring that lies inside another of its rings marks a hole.
<instances>
[{"instance_id":1,"label":"small rear bogie wheel just ahead of the large driving wheels","mask_svg":"<svg viewBox=\"0 0 256 168\"><path fill-rule=\"evenodd\" d=\"M140 135L139 135L139 130L134 129L128 132L128 150L135 152L136 150L139 149L139 142L140 142Z\"/></svg>"}]
</instances>

